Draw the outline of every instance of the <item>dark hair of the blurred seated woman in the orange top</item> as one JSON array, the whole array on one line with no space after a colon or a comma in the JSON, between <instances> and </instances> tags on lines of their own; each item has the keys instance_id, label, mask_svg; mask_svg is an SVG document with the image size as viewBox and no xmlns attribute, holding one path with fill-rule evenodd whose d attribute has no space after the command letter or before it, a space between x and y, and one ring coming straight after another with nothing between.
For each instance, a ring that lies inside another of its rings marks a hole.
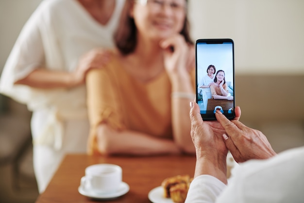
<instances>
[{"instance_id":1,"label":"dark hair of the blurred seated woman in the orange top","mask_svg":"<svg viewBox=\"0 0 304 203\"><path fill-rule=\"evenodd\" d=\"M135 50L137 44L137 28L134 19L129 16L129 12L131 7L133 6L133 3L134 0L125 1L125 5L122 10L118 24L118 29L114 34L114 41L116 47L123 55L128 55L132 53ZM185 37L187 43L193 44L189 34L189 22L187 16L185 18L184 26L180 34Z\"/></svg>"}]
</instances>

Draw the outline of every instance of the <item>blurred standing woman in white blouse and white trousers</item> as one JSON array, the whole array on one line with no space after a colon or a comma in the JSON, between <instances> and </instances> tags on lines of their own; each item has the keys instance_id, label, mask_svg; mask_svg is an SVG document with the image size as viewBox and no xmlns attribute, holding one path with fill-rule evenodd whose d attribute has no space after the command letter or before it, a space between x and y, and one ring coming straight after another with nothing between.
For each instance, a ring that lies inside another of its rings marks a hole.
<instances>
[{"instance_id":1,"label":"blurred standing woman in white blouse and white trousers","mask_svg":"<svg viewBox=\"0 0 304 203\"><path fill-rule=\"evenodd\" d=\"M0 92L33 111L34 171L39 192L68 152L85 152L89 132L84 78L114 47L124 0L43 0L23 27L0 80ZM84 55L91 59L92 55ZM93 63L93 64L92 64ZM100 66L100 65L99 65ZM99 67L98 66L98 67Z\"/></svg>"}]
</instances>

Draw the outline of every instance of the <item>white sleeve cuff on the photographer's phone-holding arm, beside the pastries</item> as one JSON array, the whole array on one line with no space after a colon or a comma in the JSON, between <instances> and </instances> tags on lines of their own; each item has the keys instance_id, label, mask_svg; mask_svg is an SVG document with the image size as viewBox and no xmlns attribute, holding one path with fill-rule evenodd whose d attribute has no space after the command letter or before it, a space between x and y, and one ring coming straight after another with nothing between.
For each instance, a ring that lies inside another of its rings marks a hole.
<instances>
[{"instance_id":1,"label":"white sleeve cuff on the photographer's phone-holding arm, beside the pastries","mask_svg":"<svg viewBox=\"0 0 304 203\"><path fill-rule=\"evenodd\" d=\"M185 203L215 203L225 188L226 185L213 176L198 176L190 184Z\"/></svg>"}]
</instances>

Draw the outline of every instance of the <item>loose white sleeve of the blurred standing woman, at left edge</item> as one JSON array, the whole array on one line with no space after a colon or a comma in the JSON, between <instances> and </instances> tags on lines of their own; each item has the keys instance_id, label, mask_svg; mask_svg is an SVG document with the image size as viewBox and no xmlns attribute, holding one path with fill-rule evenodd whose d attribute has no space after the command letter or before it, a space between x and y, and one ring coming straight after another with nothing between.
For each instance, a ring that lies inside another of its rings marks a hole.
<instances>
[{"instance_id":1,"label":"loose white sleeve of the blurred standing woman, at left edge","mask_svg":"<svg viewBox=\"0 0 304 203\"><path fill-rule=\"evenodd\" d=\"M44 64L44 47L39 29L40 14L39 9L36 10L22 28L0 78L0 92L20 103L28 102L26 95L30 87L14 83Z\"/></svg>"}]
</instances>

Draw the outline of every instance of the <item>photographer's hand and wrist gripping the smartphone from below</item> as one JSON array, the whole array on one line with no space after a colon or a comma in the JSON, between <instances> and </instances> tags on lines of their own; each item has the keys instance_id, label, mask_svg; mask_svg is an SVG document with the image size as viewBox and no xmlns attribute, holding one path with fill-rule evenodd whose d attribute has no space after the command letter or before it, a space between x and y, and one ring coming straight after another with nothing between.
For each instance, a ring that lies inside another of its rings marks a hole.
<instances>
[{"instance_id":1,"label":"photographer's hand and wrist gripping the smartphone from below","mask_svg":"<svg viewBox=\"0 0 304 203\"><path fill-rule=\"evenodd\" d=\"M218 121L203 121L196 102L190 103L191 137L196 149L194 177L208 174L227 184L226 156L228 149L221 138L225 129ZM236 120L240 109L236 108Z\"/></svg>"}]
</instances>

